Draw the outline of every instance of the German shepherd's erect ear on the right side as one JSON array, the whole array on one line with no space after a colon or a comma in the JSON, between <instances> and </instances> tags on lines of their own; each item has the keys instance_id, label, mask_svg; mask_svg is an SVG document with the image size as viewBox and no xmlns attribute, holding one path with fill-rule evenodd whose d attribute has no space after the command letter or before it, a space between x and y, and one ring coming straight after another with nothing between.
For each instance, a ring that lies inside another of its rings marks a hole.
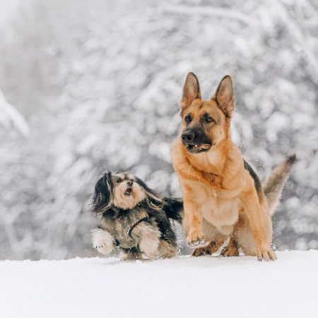
<instances>
[{"instance_id":1,"label":"German shepherd's erect ear on the right side","mask_svg":"<svg viewBox=\"0 0 318 318\"><path fill-rule=\"evenodd\" d=\"M215 100L218 103L226 117L231 117L232 110L235 107L235 95L232 79L229 75L224 76L222 81L220 81L218 89L211 100Z\"/></svg>"}]
</instances>

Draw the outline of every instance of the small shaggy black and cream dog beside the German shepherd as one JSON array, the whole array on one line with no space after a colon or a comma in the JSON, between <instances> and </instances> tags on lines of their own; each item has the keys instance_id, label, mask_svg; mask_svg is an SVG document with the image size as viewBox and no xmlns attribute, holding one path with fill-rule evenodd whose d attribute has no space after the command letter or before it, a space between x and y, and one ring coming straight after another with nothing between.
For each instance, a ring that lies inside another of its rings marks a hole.
<instances>
[{"instance_id":1,"label":"small shaggy black and cream dog beside the German shepherd","mask_svg":"<svg viewBox=\"0 0 318 318\"><path fill-rule=\"evenodd\" d=\"M115 249L124 259L159 259L177 254L170 220L182 220L182 201L160 199L141 179L107 172L95 185L92 211L102 215L93 246L102 254Z\"/></svg>"}]
</instances>

